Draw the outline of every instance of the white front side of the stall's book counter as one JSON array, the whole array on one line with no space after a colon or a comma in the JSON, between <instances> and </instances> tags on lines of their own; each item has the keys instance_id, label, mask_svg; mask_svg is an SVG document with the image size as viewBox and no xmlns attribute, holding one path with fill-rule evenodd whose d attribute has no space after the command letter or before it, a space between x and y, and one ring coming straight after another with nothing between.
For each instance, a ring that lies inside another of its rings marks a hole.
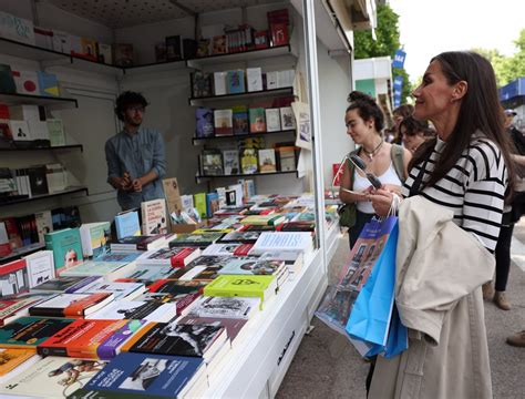
<instances>
[{"instance_id":1,"label":"white front side of the stall's book counter","mask_svg":"<svg viewBox=\"0 0 525 399\"><path fill-rule=\"evenodd\" d=\"M277 296L265 303L264 310L250 321L253 334L231 349L215 378L218 382L204 397L275 397L276 392L262 393L267 382L277 390L310 323L308 307L317 307L326 287L320 263L321 253L316 249Z\"/></svg>"}]
</instances>

